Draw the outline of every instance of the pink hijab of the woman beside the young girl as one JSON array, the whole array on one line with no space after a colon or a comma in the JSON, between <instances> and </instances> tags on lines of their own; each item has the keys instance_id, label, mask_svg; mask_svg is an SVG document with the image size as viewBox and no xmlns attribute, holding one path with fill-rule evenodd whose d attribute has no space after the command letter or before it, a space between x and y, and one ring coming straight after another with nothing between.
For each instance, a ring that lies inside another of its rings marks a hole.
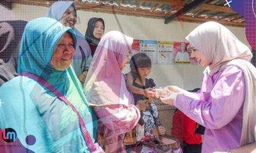
<instances>
[{"instance_id":1,"label":"pink hijab of the woman beside the young girl","mask_svg":"<svg viewBox=\"0 0 256 153\"><path fill-rule=\"evenodd\" d=\"M134 103L127 90L120 65L131 51L133 38L110 31L101 38L84 83L90 105L130 105Z\"/></svg>"}]
</instances>

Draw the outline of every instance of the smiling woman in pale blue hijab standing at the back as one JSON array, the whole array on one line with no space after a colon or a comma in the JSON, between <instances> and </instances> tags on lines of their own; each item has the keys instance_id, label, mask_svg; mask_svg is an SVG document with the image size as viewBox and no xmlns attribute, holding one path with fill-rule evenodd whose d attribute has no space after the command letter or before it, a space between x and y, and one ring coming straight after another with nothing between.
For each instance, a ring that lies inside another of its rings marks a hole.
<instances>
[{"instance_id":1,"label":"smiling woman in pale blue hijab standing at the back","mask_svg":"<svg viewBox=\"0 0 256 153\"><path fill-rule=\"evenodd\" d=\"M72 67L79 81L83 84L86 81L87 71L90 68L91 61L91 49L84 36L74 28L76 24L77 13L76 5L72 1L58 1L55 2L48 10L47 17L51 17L58 20L66 27L73 28L76 37L77 45L76 52L73 57Z\"/></svg>"}]
</instances>

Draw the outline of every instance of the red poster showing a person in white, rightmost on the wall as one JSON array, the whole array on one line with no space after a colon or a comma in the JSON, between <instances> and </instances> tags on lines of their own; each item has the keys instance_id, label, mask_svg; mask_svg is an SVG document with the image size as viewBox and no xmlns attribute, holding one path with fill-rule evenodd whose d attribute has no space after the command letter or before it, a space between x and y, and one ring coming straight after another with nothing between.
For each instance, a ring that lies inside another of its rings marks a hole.
<instances>
[{"instance_id":1,"label":"red poster showing a person in white, rightmost on the wall","mask_svg":"<svg viewBox=\"0 0 256 153\"><path fill-rule=\"evenodd\" d=\"M173 63L190 64L190 56L187 52L187 42L174 42L173 45Z\"/></svg>"}]
</instances>

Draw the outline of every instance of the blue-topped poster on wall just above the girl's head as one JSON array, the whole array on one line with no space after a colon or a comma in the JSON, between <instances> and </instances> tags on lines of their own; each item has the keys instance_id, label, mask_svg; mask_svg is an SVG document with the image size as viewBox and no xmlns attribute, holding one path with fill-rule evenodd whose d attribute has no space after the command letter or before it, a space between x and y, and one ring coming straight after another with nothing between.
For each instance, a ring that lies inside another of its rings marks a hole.
<instances>
[{"instance_id":1,"label":"blue-topped poster on wall just above the girl's head","mask_svg":"<svg viewBox=\"0 0 256 153\"><path fill-rule=\"evenodd\" d=\"M152 64L157 64L157 41L140 41L140 52L147 54Z\"/></svg>"}]
</instances>

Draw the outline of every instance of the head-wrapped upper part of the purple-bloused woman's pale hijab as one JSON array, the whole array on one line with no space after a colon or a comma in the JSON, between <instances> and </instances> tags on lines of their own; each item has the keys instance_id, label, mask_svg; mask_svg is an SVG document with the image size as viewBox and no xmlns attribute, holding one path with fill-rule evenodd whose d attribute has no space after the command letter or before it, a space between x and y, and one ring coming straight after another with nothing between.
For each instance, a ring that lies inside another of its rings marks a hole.
<instances>
[{"instance_id":1,"label":"head-wrapped upper part of the purple-bloused woman's pale hijab","mask_svg":"<svg viewBox=\"0 0 256 153\"><path fill-rule=\"evenodd\" d=\"M211 65L209 75L226 67L234 59L250 61L253 57L250 49L241 43L231 31L223 25L209 21L199 25L186 37L195 49L203 52Z\"/></svg>"}]
</instances>

